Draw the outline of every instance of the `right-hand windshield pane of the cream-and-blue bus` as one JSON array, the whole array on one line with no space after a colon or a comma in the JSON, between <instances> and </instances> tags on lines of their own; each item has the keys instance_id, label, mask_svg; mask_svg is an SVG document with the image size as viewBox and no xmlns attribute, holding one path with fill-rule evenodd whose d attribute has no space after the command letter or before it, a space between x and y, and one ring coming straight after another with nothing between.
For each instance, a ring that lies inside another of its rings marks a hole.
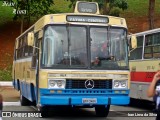
<instances>
[{"instance_id":1,"label":"right-hand windshield pane of the cream-and-blue bus","mask_svg":"<svg viewBox=\"0 0 160 120\"><path fill-rule=\"evenodd\" d=\"M92 68L128 69L126 30L91 27Z\"/></svg>"}]
</instances>

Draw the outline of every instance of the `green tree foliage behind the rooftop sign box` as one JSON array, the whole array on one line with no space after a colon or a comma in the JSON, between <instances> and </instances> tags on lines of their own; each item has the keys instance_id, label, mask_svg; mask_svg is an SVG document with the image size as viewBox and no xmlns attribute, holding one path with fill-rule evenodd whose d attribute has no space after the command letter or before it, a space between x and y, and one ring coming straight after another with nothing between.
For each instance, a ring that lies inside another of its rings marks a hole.
<instances>
[{"instance_id":1,"label":"green tree foliage behind the rooftop sign box","mask_svg":"<svg viewBox=\"0 0 160 120\"><path fill-rule=\"evenodd\" d=\"M69 7L74 8L77 0L67 0L67 1L71 2ZM86 1L97 2L99 4L100 12L103 15L119 16L120 9L126 10L128 8L126 0L86 0Z\"/></svg>"}]
</instances>

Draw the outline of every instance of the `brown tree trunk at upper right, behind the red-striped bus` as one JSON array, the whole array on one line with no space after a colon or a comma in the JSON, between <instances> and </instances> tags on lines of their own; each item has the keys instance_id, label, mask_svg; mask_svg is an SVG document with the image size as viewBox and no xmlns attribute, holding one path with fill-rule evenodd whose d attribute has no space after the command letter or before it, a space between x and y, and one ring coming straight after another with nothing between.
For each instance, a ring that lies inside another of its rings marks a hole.
<instances>
[{"instance_id":1,"label":"brown tree trunk at upper right, behind the red-striped bus","mask_svg":"<svg viewBox=\"0 0 160 120\"><path fill-rule=\"evenodd\" d=\"M154 29L154 9L155 9L155 0L149 0L149 10L148 10L149 29Z\"/></svg>"}]
</instances>

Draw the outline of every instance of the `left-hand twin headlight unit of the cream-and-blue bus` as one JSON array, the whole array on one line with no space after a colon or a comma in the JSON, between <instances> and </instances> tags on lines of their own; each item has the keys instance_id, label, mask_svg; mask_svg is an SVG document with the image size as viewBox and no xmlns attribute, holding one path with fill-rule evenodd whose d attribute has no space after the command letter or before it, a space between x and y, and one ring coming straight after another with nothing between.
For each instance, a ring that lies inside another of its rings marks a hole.
<instances>
[{"instance_id":1,"label":"left-hand twin headlight unit of the cream-and-blue bus","mask_svg":"<svg viewBox=\"0 0 160 120\"><path fill-rule=\"evenodd\" d=\"M48 88L64 89L66 86L65 79L48 79Z\"/></svg>"}]
</instances>

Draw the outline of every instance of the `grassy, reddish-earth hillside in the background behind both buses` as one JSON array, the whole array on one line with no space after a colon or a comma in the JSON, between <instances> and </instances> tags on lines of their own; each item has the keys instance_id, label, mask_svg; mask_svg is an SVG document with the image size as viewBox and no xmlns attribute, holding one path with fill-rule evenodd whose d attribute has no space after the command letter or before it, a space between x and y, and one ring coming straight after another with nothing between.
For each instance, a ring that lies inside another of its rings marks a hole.
<instances>
[{"instance_id":1,"label":"grassy, reddish-earth hillside in the background behind both buses","mask_svg":"<svg viewBox=\"0 0 160 120\"><path fill-rule=\"evenodd\" d=\"M120 17L127 21L128 31L136 33L148 30L148 0L127 0L128 9L121 11ZM2 6L0 1L0 80L11 80L13 49L15 38L20 35L20 22L13 21L13 8ZM57 13L70 13L67 0L54 0L51 9ZM155 28L160 27L160 0L156 0ZM32 24L35 21L32 21ZM27 29L25 27L24 29Z\"/></svg>"}]
</instances>

